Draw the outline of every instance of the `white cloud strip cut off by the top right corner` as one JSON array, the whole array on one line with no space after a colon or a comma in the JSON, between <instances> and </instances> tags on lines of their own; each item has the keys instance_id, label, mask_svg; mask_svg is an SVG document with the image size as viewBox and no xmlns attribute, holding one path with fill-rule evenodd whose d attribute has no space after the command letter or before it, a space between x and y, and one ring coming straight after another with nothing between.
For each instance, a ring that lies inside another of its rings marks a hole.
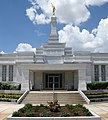
<instances>
[{"instance_id":1,"label":"white cloud strip cut off by the top right corner","mask_svg":"<svg viewBox=\"0 0 108 120\"><path fill-rule=\"evenodd\" d=\"M89 6L100 6L108 2L108 0L85 0L86 5Z\"/></svg>"}]
</instances>

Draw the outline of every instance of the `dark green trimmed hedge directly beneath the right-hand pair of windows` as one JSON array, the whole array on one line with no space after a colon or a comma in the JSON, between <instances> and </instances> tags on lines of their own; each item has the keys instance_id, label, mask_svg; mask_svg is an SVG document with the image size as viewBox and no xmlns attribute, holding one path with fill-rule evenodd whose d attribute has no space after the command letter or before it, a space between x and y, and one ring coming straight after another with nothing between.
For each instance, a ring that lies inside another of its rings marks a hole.
<instances>
[{"instance_id":1,"label":"dark green trimmed hedge directly beneath the right-hand pair of windows","mask_svg":"<svg viewBox=\"0 0 108 120\"><path fill-rule=\"evenodd\" d=\"M108 89L108 82L92 82L87 83L88 90L103 90Z\"/></svg>"}]
</instances>

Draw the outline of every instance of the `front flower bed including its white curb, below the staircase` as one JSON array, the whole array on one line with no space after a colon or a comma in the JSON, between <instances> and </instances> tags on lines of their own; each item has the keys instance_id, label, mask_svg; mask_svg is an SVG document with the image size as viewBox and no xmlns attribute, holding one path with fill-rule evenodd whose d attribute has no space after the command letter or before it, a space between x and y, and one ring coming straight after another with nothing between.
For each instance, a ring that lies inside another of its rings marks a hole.
<instances>
[{"instance_id":1,"label":"front flower bed including its white curb, below the staircase","mask_svg":"<svg viewBox=\"0 0 108 120\"><path fill-rule=\"evenodd\" d=\"M51 103L52 104L52 103ZM83 105L40 105L32 106L26 104L23 108L14 112L12 116L9 116L7 120L100 120L99 116L94 116Z\"/></svg>"}]
</instances>

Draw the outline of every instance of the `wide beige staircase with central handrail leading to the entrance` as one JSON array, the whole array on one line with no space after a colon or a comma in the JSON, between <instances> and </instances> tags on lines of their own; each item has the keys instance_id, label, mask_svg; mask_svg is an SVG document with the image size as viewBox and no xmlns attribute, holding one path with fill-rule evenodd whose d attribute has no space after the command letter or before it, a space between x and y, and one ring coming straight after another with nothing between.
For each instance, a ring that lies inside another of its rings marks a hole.
<instances>
[{"instance_id":1,"label":"wide beige staircase with central handrail leading to the entrance","mask_svg":"<svg viewBox=\"0 0 108 120\"><path fill-rule=\"evenodd\" d=\"M47 104L48 101L58 100L60 104L85 104L78 91L30 91L22 103Z\"/></svg>"}]
</instances>

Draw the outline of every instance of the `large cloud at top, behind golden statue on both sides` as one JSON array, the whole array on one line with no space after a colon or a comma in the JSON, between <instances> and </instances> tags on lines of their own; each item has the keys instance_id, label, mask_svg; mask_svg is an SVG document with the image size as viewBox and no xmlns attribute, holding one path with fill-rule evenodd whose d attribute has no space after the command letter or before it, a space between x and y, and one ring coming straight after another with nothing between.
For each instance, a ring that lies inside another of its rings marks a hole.
<instances>
[{"instance_id":1,"label":"large cloud at top, behind golden statue on both sides","mask_svg":"<svg viewBox=\"0 0 108 120\"><path fill-rule=\"evenodd\" d=\"M26 15L33 23L48 24L52 16L52 0L29 0L31 8L26 10ZM84 0L55 0L56 16L60 23L79 25L87 21L90 16ZM68 8L68 9L67 9ZM41 10L41 13L39 12Z\"/></svg>"}]
</instances>

